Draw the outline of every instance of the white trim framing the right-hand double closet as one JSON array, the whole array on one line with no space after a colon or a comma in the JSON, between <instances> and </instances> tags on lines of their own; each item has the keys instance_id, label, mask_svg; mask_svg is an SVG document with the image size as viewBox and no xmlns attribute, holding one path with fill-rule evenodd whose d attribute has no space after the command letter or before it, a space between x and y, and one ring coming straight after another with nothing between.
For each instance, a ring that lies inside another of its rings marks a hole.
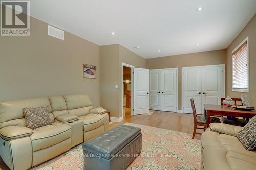
<instances>
[{"instance_id":1,"label":"white trim framing the right-hand double closet","mask_svg":"<svg viewBox=\"0 0 256 170\"><path fill-rule=\"evenodd\" d=\"M202 65L202 66L191 66L191 67L181 67L181 112L183 112L183 107L184 107L184 89L183 89L183 69L186 68L207 68L207 67L216 67L216 66L222 66L223 69L223 74L224 74L224 81L223 81L223 87L224 91L223 94L224 96L226 95L226 87L225 87L225 81L226 81L226 75L225 75L225 64L217 64L217 65Z\"/></svg>"}]
</instances>

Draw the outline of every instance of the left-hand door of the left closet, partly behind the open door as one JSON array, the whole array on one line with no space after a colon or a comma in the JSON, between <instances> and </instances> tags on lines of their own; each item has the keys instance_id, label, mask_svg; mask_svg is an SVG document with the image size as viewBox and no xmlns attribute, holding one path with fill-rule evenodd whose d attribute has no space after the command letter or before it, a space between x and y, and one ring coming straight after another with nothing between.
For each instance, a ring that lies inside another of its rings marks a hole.
<instances>
[{"instance_id":1,"label":"left-hand door of the left closet, partly behind the open door","mask_svg":"<svg viewBox=\"0 0 256 170\"><path fill-rule=\"evenodd\" d=\"M161 110L161 70L150 70L150 109Z\"/></svg>"}]
</instances>

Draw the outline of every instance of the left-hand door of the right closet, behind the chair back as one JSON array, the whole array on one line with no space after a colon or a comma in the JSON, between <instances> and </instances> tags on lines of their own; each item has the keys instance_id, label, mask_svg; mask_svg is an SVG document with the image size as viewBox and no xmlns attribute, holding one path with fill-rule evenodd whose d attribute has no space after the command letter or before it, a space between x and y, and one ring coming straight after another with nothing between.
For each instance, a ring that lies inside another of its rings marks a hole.
<instances>
[{"instance_id":1,"label":"left-hand door of the right closet, behind the chair back","mask_svg":"<svg viewBox=\"0 0 256 170\"><path fill-rule=\"evenodd\" d=\"M184 113L192 113L190 99L194 98L196 111L202 112L202 95L201 95L201 68L189 67L182 68L182 106Z\"/></svg>"}]
</instances>

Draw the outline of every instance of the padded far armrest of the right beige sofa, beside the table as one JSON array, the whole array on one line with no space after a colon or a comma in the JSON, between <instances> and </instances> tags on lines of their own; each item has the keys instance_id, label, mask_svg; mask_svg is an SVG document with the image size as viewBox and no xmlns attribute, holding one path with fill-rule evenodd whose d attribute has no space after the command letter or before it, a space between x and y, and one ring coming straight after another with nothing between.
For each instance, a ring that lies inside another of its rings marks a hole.
<instances>
[{"instance_id":1,"label":"padded far armrest of the right beige sofa, beside the table","mask_svg":"<svg viewBox=\"0 0 256 170\"><path fill-rule=\"evenodd\" d=\"M211 123L210 130L215 131L218 133L223 133L231 136L236 136L238 131L240 131L243 127L240 126L234 126L229 124L223 124L223 123Z\"/></svg>"}]
</instances>

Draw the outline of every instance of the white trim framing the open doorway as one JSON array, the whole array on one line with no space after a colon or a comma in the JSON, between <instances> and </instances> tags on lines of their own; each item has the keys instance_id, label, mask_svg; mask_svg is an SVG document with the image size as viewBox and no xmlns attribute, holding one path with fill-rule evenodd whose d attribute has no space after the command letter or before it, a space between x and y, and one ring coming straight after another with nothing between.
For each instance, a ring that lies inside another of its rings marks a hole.
<instances>
[{"instance_id":1,"label":"white trim framing the open doorway","mask_svg":"<svg viewBox=\"0 0 256 170\"><path fill-rule=\"evenodd\" d=\"M119 117L119 120L120 120L120 118L122 118L122 120L123 120L123 66L131 68L131 115L133 115L133 107L134 107L134 103L133 103L134 102L133 101L133 96L134 96L133 69L134 69L134 66L122 62L121 63L121 84L120 84L121 85L121 112L122 112L122 117Z\"/></svg>"}]
</instances>

